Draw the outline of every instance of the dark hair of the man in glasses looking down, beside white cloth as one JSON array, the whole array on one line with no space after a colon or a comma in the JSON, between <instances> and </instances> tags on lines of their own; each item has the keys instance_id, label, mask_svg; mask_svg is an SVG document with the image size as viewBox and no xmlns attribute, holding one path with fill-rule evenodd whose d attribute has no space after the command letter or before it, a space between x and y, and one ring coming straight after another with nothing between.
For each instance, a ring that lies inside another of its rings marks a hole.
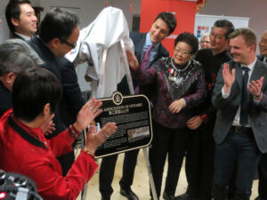
<instances>
[{"instance_id":1,"label":"dark hair of the man in glasses looking down, beside white cloth","mask_svg":"<svg viewBox=\"0 0 267 200\"><path fill-rule=\"evenodd\" d=\"M39 36L45 44L48 44L53 38L67 40L78 24L77 14L55 8L44 16L40 25Z\"/></svg>"}]
</instances>

